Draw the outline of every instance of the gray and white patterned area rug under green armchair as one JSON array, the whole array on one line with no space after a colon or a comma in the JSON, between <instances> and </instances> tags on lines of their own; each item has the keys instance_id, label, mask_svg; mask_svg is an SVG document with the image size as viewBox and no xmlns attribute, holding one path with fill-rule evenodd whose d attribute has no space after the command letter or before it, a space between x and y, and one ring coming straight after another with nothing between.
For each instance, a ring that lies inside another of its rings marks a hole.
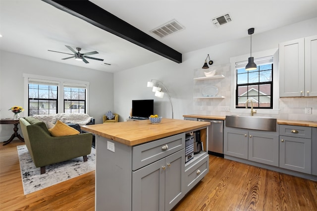
<instances>
[{"instance_id":1,"label":"gray and white patterned area rug under green armchair","mask_svg":"<svg viewBox=\"0 0 317 211\"><path fill-rule=\"evenodd\" d=\"M74 158L69 161L46 166L46 173L44 174L41 174L41 168L35 167L26 145L17 146L17 149L19 154L24 195L33 193L96 169L95 148L92 148L91 154L87 155L87 162L83 161L83 157Z\"/></svg>"}]
</instances>

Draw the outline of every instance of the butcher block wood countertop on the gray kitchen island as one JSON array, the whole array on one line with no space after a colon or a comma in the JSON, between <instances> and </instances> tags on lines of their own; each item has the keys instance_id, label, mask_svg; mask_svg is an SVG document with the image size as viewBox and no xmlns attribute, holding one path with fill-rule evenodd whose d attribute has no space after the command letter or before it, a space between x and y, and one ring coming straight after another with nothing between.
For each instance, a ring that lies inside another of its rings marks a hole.
<instances>
[{"instance_id":1,"label":"butcher block wood countertop on the gray kitchen island","mask_svg":"<svg viewBox=\"0 0 317 211\"><path fill-rule=\"evenodd\" d=\"M149 120L141 120L86 125L81 126L81 129L128 146L134 146L209 125L208 122L163 118L159 124L151 124Z\"/></svg>"}]
</instances>

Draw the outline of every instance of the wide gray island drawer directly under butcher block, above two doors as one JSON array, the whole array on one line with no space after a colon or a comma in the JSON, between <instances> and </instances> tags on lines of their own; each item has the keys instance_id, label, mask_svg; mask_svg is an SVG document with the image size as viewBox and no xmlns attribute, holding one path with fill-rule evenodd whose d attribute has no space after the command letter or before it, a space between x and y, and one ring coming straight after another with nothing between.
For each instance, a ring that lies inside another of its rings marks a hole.
<instances>
[{"instance_id":1,"label":"wide gray island drawer directly under butcher block, above two doors","mask_svg":"<svg viewBox=\"0 0 317 211\"><path fill-rule=\"evenodd\" d=\"M162 138L132 148L132 170L165 158L185 148L185 133Z\"/></svg>"}]
</instances>

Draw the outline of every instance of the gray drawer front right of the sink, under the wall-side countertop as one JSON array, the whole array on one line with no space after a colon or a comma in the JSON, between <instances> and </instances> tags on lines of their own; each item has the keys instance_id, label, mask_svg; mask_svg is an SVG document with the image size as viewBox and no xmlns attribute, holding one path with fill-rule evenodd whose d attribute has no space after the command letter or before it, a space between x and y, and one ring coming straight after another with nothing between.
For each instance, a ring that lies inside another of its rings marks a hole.
<instances>
[{"instance_id":1,"label":"gray drawer front right of the sink, under the wall-side countertop","mask_svg":"<svg viewBox=\"0 0 317 211\"><path fill-rule=\"evenodd\" d=\"M312 138L312 127L280 125L279 134L297 138Z\"/></svg>"}]
</instances>

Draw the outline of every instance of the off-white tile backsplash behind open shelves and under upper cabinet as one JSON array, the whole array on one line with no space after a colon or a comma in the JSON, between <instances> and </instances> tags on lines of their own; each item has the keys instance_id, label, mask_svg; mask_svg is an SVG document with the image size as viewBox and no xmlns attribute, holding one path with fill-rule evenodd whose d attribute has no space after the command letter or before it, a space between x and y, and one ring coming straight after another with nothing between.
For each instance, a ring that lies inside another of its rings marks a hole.
<instances>
[{"instance_id":1,"label":"off-white tile backsplash behind open shelves and under upper cabinet","mask_svg":"<svg viewBox=\"0 0 317 211\"><path fill-rule=\"evenodd\" d=\"M223 75L223 79L210 79L197 81L193 80L193 114L200 115L231 115L231 112L225 111L230 107L231 100L231 65L217 65L209 69L195 69L193 78L204 77L204 71L209 72L216 69L215 75ZM195 98L203 96L202 91L206 86L214 85L218 88L217 95L224 98L201 99ZM305 114L305 108L312 108L312 114ZM288 97L279 98L278 114L270 115L277 119L284 120L302 120L317 122L317 97Z\"/></svg>"}]
</instances>

